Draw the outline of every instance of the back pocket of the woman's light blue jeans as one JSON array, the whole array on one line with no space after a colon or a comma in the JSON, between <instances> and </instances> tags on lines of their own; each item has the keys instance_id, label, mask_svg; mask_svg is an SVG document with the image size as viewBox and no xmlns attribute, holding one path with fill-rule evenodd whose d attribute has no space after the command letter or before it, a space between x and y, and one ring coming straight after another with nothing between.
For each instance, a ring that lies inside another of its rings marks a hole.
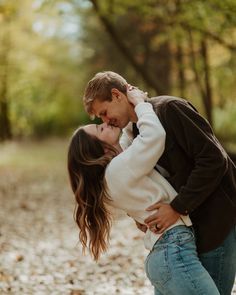
<instances>
[{"instance_id":1,"label":"back pocket of the woman's light blue jeans","mask_svg":"<svg viewBox=\"0 0 236 295\"><path fill-rule=\"evenodd\" d=\"M163 286L171 278L167 247L156 247L146 258L145 270L153 286Z\"/></svg>"}]
</instances>

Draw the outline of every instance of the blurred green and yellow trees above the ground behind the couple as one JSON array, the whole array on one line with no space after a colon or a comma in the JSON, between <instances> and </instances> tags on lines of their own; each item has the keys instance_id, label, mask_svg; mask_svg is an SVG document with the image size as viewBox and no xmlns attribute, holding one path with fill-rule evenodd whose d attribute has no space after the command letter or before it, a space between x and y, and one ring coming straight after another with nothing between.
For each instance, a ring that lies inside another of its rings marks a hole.
<instances>
[{"instance_id":1,"label":"blurred green and yellow trees above the ground behind the couple","mask_svg":"<svg viewBox=\"0 0 236 295\"><path fill-rule=\"evenodd\" d=\"M0 0L0 139L64 136L113 70L149 95L187 98L236 141L234 0Z\"/></svg>"}]
</instances>

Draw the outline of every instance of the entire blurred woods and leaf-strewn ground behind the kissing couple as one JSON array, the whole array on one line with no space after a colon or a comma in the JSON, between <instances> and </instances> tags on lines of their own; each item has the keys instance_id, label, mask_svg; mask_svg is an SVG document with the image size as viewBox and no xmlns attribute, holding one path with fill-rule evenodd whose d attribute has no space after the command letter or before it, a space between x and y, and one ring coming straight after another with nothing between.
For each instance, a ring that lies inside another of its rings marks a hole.
<instances>
[{"instance_id":1,"label":"entire blurred woods and leaf-strewn ground behind the kissing couple","mask_svg":"<svg viewBox=\"0 0 236 295\"><path fill-rule=\"evenodd\" d=\"M152 293L127 216L99 264L81 255L68 137L112 70L191 101L236 161L235 15L235 0L0 0L1 294Z\"/></svg>"}]
</instances>

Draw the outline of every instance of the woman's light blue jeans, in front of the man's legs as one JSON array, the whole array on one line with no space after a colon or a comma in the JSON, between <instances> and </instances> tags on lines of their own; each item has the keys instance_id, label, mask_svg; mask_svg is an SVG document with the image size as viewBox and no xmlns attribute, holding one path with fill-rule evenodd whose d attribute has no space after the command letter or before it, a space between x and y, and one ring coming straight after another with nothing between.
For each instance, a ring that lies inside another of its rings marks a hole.
<instances>
[{"instance_id":1,"label":"woman's light blue jeans, in front of the man's legs","mask_svg":"<svg viewBox=\"0 0 236 295\"><path fill-rule=\"evenodd\" d=\"M220 295L198 258L191 227L165 232L147 256L145 269L155 295Z\"/></svg>"}]
</instances>

